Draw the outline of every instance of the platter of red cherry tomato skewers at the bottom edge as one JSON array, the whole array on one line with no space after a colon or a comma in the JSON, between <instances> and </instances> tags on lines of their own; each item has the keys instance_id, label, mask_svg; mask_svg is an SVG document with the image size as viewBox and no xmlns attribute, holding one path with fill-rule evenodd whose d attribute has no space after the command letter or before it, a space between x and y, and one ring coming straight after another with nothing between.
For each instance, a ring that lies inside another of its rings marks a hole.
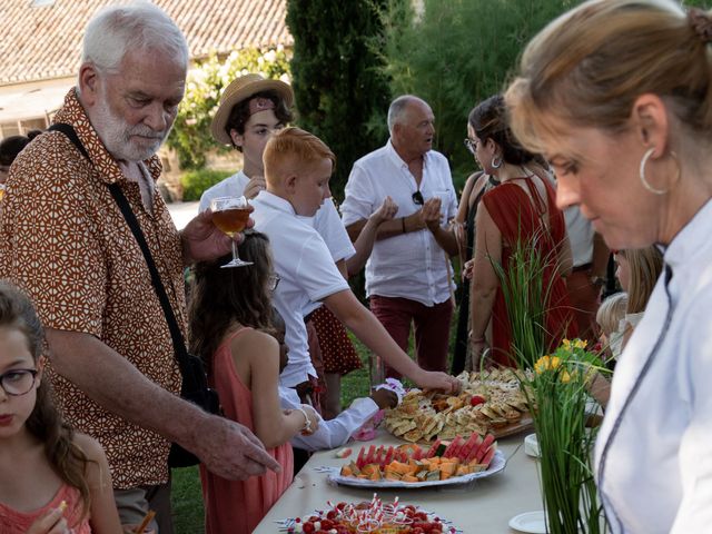
<instances>
[{"instance_id":1,"label":"platter of red cherry tomato skewers at the bottom edge","mask_svg":"<svg viewBox=\"0 0 712 534\"><path fill-rule=\"evenodd\" d=\"M431 512L403 505L395 497L384 503L377 495L370 502L327 502L328 510L279 522L279 530L290 534L455 534L458 531Z\"/></svg>"}]
</instances>

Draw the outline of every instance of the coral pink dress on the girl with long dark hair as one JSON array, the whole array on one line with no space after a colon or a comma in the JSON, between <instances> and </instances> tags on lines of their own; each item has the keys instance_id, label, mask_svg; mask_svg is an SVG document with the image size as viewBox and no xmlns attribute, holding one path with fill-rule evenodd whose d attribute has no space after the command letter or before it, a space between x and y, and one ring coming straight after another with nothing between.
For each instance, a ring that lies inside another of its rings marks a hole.
<instances>
[{"instance_id":1,"label":"coral pink dress on the girl with long dark hair","mask_svg":"<svg viewBox=\"0 0 712 534\"><path fill-rule=\"evenodd\" d=\"M222 340L212 359L210 382L220 396L225 416L255 431L253 393L240 380L233 362L230 343L250 328L240 328ZM281 465L281 473L268 471L247 481L226 481L200 465L206 510L206 534L249 534L287 490L294 476L291 445L267 451Z\"/></svg>"}]
</instances>

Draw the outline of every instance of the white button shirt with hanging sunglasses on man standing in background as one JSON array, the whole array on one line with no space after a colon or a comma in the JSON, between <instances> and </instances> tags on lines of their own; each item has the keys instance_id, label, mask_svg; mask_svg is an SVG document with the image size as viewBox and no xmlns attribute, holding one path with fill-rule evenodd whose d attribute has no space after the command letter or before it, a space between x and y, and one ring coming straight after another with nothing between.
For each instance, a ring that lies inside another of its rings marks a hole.
<instances>
[{"instance_id":1,"label":"white button shirt with hanging sunglasses on man standing in background","mask_svg":"<svg viewBox=\"0 0 712 534\"><path fill-rule=\"evenodd\" d=\"M417 190L407 164L388 141L354 164L342 205L344 225L368 218L386 196L398 205L398 217L412 215L421 209L413 201ZM425 155L419 190L425 200L442 199L442 225L446 226L457 212L457 196L447 159L435 150ZM366 264L366 293L433 306L449 298L452 273L449 258L433 234L427 228L412 231L376 241Z\"/></svg>"}]
</instances>

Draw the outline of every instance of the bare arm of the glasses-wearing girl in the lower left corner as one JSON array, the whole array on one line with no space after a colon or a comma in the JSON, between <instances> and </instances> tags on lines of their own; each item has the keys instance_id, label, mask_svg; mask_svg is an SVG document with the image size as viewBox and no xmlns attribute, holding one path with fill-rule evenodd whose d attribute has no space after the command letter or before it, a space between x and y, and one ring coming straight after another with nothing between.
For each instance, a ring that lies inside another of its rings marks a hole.
<instances>
[{"instance_id":1,"label":"bare arm of the glasses-wearing girl in the lower left corner","mask_svg":"<svg viewBox=\"0 0 712 534\"><path fill-rule=\"evenodd\" d=\"M113 487L109 463L99 442L86 434L75 434L75 444L83 451L89 462L85 471L91 495L89 524L95 534L119 534L121 522L113 501Z\"/></svg>"}]
</instances>

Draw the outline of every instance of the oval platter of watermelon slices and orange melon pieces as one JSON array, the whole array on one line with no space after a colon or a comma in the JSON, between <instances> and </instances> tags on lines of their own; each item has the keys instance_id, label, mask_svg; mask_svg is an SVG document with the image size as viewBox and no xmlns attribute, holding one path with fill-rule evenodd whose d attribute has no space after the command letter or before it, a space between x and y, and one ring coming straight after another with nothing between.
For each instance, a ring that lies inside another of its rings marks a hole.
<instances>
[{"instance_id":1,"label":"oval platter of watermelon slices and orange melon pieces","mask_svg":"<svg viewBox=\"0 0 712 534\"><path fill-rule=\"evenodd\" d=\"M506 461L492 434L473 434L451 443L436 441L429 448L416 444L362 447L355 461L323 467L333 484L353 487L416 488L468 484L504 469Z\"/></svg>"}]
</instances>

